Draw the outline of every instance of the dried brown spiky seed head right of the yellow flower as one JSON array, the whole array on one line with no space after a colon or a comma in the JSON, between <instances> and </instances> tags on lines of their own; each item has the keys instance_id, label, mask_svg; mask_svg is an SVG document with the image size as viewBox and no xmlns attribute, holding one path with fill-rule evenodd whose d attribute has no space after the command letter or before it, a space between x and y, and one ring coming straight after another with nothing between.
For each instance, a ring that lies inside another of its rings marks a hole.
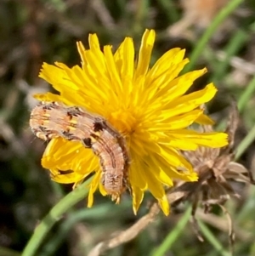
<instances>
[{"instance_id":1,"label":"dried brown spiky seed head right of the yellow flower","mask_svg":"<svg viewBox=\"0 0 255 256\"><path fill-rule=\"evenodd\" d=\"M193 224L200 240L202 240L202 238L199 235L195 221L195 211L200 202L205 213L208 213L212 205L215 204L223 209L229 220L229 238L232 244L234 241L234 231L232 229L230 215L224 208L224 202L226 202L230 196L239 197L239 195L235 192L230 181L254 184L252 174L241 164L234 161L234 142L237 125L238 111L236 105L233 104L229 115L229 123L225 131L229 135L229 145L221 149L211 149L201 146L197 151L183 152L200 178L194 193L190 193L190 198L193 202ZM207 132L212 131L211 126L203 128Z\"/></svg>"}]
</instances>

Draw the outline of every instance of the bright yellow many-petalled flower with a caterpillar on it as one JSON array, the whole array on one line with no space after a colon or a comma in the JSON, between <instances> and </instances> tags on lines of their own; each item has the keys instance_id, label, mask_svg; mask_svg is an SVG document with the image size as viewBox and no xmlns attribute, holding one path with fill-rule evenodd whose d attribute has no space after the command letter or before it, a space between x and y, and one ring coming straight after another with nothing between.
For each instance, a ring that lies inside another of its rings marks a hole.
<instances>
[{"instance_id":1,"label":"bright yellow many-petalled flower with a caterpillar on it","mask_svg":"<svg viewBox=\"0 0 255 256\"><path fill-rule=\"evenodd\" d=\"M51 83L59 94L37 94L36 98L81 106L104 117L127 141L131 158L128 182L134 213L143 201L144 191L148 190L168 214L164 187L172 186L173 179L197 180L197 174L179 150L195 151L201 145L222 147L227 145L227 135L201 134L188 128L194 122L212 123L200 105L212 100L217 89L210 83L200 91L185 94L207 70L178 77L189 62L180 48L170 49L150 68L155 37L153 30L144 32L138 60L134 61L131 37L126 37L113 54L111 45L101 51L98 37L89 35L89 49L77 43L81 66L42 65L40 77ZM77 184L95 172L88 207L93 205L97 189L102 195L106 194L100 184L102 171L98 156L79 142L52 139L42 156L42 166L48 168L59 183ZM67 172L70 169L72 173Z\"/></svg>"}]
</instances>

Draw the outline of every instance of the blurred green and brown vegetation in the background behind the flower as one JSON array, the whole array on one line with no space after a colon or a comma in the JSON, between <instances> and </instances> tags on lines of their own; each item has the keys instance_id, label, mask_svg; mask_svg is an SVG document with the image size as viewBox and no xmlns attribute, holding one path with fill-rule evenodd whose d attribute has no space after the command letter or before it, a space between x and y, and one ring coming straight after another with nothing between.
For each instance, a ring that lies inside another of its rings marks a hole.
<instances>
[{"instance_id":1,"label":"blurred green and brown vegetation in the background behind the flower","mask_svg":"<svg viewBox=\"0 0 255 256\"><path fill-rule=\"evenodd\" d=\"M37 77L42 62L79 64L76 42L88 46L89 33L96 32L102 45L114 48L131 36L138 49L144 29L153 28L157 37L152 62L173 47L186 48L187 56L197 51L193 68L207 66L208 73L194 89L211 81L216 84L218 95L208 110L218 122L226 120L231 97L238 102L241 122L235 145L250 136L239 162L254 173L254 131L250 133L255 123L254 0L239 1L211 31L209 40L201 43L212 20L231 2L237 1L0 0L0 256L21 255L40 220L71 191L71 185L54 184L41 167L46 143L29 128L30 111L36 104L31 95L50 90ZM237 190L241 200L227 203L235 225L235 255L255 255L255 189L239 185ZM82 200L59 219L35 255L88 255L98 242L127 229L148 211L145 200L134 216L128 195L120 205L99 195L94 208L87 209L86 204ZM185 208L173 208L167 218L160 214L131 242L104 255L229 255L222 211L213 208L211 214L198 214L201 230L207 227L210 233L205 242L199 242L189 223L177 227ZM153 254L162 245L167 251Z\"/></svg>"}]
</instances>

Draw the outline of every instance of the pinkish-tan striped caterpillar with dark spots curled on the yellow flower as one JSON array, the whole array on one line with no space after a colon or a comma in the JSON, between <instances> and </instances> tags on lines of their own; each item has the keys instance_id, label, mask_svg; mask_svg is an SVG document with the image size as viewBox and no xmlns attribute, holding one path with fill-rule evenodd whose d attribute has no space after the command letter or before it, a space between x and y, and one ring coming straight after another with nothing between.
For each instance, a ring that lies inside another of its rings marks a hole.
<instances>
[{"instance_id":1,"label":"pinkish-tan striped caterpillar with dark spots curled on the yellow flower","mask_svg":"<svg viewBox=\"0 0 255 256\"><path fill-rule=\"evenodd\" d=\"M127 189L129 156L126 141L103 117L94 116L78 107L57 102L42 102L31 111L30 126L40 139L62 137L80 141L99 156L101 183L112 200L120 201Z\"/></svg>"}]
</instances>

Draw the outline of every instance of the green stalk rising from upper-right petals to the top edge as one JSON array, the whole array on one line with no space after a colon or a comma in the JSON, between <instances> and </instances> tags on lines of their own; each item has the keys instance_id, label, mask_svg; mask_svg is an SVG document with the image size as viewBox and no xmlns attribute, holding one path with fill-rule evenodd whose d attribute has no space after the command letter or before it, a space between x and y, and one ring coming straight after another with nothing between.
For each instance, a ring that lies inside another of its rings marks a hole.
<instances>
[{"instance_id":1,"label":"green stalk rising from upper-right petals to the top edge","mask_svg":"<svg viewBox=\"0 0 255 256\"><path fill-rule=\"evenodd\" d=\"M196 47L190 55L190 63L185 66L184 72L191 71L194 68L196 60L198 60L209 39L218 29L218 26L220 26L229 14L231 14L243 1L244 0L231 0L223 9L221 9L221 11L218 12L215 19L212 20L211 26L207 28L201 39L196 43Z\"/></svg>"}]
</instances>

